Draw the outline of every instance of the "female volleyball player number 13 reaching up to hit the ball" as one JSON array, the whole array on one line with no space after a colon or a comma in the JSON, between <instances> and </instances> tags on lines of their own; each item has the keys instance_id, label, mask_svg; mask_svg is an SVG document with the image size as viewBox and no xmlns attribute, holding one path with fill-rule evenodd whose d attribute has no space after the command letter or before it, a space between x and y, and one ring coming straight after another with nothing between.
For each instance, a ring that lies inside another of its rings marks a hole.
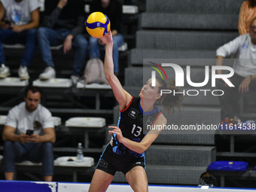
<instances>
[{"instance_id":1,"label":"female volleyball player number 13 reaching up to hit the ball","mask_svg":"<svg viewBox=\"0 0 256 192\"><path fill-rule=\"evenodd\" d=\"M109 30L110 31L110 30ZM143 125L165 125L166 118L154 103L160 99L167 111L179 106L181 96L160 96L160 90L177 90L171 81L167 87L165 81L158 78L152 87L151 79L142 87L139 97L133 97L120 84L114 75L113 41L111 31L100 38L105 43L105 76L112 87L114 96L120 105L120 118L117 126L109 126L111 142L102 153L94 172L89 192L101 192L108 188L114 173L123 172L134 191L148 191L148 179L145 172L145 151L157 138L160 130L143 132Z\"/></svg>"}]
</instances>

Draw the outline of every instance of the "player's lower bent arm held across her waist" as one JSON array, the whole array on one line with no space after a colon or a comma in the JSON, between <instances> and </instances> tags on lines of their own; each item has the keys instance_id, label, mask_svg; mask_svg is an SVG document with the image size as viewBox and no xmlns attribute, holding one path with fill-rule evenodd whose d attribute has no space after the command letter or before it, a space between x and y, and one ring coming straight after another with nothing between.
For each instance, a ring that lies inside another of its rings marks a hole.
<instances>
[{"instance_id":1,"label":"player's lower bent arm held across her waist","mask_svg":"<svg viewBox=\"0 0 256 192\"><path fill-rule=\"evenodd\" d=\"M163 114L160 114L160 116L157 118L156 122L154 123L155 126L160 125L166 125L167 120L166 117L163 116ZM117 126L109 126L109 128L113 128L113 130L110 130L109 133L115 133L117 135L117 139L119 142L123 143L127 148L130 148L132 151L136 151L139 154L142 154L144 151L148 149L148 147L154 142L155 139L157 139L157 136L161 133L162 130L150 130L147 135L142 139L142 142L133 142L130 139L126 139L123 137L123 134L119 127Z\"/></svg>"}]
</instances>

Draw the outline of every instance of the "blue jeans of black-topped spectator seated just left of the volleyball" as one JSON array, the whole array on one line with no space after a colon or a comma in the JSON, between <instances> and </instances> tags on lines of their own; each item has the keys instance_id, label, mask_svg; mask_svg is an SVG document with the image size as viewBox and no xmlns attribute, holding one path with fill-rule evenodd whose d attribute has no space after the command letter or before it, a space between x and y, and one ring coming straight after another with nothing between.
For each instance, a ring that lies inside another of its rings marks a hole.
<instances>
[{"instance_id":1,"label":"blue jeans of black-topped spectator seated just left of the volleyball","mask_svg":"<svg viewBox=\"0 0 256 192\"><path fill-rule=\"evenodd\" d=\"M50 46L63 44L70 32L71 29L53 30L47 27L40 27L38 29L38 44L46 66L54 67ZM84 35L79 34L73 39L72 47L76 49L75 63L72 69L72 75L80 75L81 70L84 67L88 41L86 38L84 38Z\"/></svg>"}]
</instances>

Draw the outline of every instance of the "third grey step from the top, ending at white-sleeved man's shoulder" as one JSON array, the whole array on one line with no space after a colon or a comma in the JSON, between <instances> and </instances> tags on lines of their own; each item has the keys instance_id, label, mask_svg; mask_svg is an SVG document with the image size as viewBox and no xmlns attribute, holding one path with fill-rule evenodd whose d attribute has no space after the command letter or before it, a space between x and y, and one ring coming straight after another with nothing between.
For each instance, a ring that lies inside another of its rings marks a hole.
<instances>
[{"instance_id":1,"label":"third grey step from the top, ending at white-sleeved man's shoulder","mask_svg":"<svg viewBox=\"0 0 256 192\"><path fill-rule=\"evenodd\" d=\"M238 35L238 32L141 30L136 32L136 47L158 50L217 50Z\"/></svg>"}]
</instances>

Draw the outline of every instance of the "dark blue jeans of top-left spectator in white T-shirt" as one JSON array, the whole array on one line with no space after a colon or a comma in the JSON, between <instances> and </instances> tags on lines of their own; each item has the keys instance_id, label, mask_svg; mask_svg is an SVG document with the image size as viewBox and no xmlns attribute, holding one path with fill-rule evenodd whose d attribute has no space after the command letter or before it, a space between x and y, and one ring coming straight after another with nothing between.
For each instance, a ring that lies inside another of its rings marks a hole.
<instances>
[{"instance_id":1,"label":"dark blue jeans of top-left spectator in white T-shirt","mask_svg":"<svg viewBox=\"0 0 256 192\"><path fill-rule=\"evenodd\" d=\"M21 65L29 67L37 46L37 29L13 32L11 29L0 29L0 64L5 62L3 44L24 44L25 50L21 59Z\"/></svg>"}]
</instances>

